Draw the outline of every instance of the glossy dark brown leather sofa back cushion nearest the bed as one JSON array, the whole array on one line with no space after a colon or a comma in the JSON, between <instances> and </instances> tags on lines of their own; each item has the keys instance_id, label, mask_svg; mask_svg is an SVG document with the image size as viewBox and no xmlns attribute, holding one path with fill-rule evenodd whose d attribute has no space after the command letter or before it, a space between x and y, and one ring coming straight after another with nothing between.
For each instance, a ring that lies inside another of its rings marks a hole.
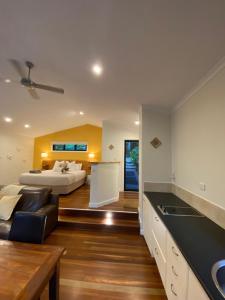
<instances>
[{"instance_id":1,"label":"glossy dark brown leather sofa back cushion nearest the bed","mask_svg":"<svg viewBox=\"0 0 225 300\"><path fill-rule=\"evenodd\" d=\"M48 203L48 196L51 188L47 187L24 187L15 211L35 212Z\"/></svg>"}]
</instances>

